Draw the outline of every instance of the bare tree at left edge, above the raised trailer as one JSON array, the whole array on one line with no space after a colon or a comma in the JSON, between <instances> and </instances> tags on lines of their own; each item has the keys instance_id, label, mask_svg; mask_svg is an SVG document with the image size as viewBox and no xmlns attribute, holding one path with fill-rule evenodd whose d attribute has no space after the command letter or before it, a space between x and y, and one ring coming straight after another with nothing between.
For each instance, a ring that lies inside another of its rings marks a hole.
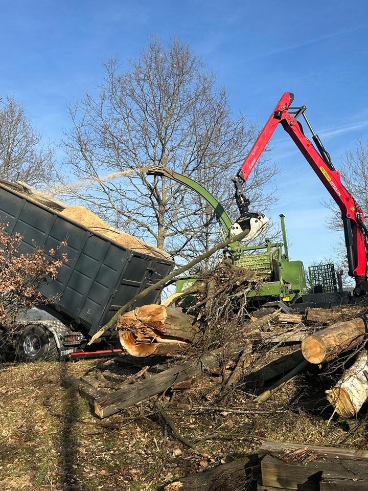
<instances>
[{"instance_id":1,"label":"bare tree at left edge, above the raised trailer","mask_svg":"<svg viewBox=\"0 0 368 491\"><path fill-rule=\"evenodd\" d=\"M50 183L54 154L41 142L25 108L5 96L0 105L0 177L31 186Z\"/></svg>"}]
</instances>

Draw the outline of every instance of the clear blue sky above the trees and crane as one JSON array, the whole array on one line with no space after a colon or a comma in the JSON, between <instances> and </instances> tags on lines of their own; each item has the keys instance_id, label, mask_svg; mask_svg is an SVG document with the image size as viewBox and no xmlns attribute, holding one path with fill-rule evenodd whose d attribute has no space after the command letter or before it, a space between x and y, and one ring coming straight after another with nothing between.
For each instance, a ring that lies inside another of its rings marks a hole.
<instances>
[{"instance_id":1,"label":"clear blue sky above the trees and crane","mask_svg":"<svg viewBox=\"0 0 368 491\"><path fill-rule=\"evenodd\" d=\"M174 35L218 74L235 113L263 124L280 96L295 94L338 169L356 140L368 140L368 4L264 0L2 0L0 94L27 108L46 140L69 125L66 106L93 90L110 56L136 57L150 34ZM291 139L279 128L273 160L290 254L308 265L334 254L327 198ZM230 184L229 184L230 185Z\"/></svg>"}]
</instances>

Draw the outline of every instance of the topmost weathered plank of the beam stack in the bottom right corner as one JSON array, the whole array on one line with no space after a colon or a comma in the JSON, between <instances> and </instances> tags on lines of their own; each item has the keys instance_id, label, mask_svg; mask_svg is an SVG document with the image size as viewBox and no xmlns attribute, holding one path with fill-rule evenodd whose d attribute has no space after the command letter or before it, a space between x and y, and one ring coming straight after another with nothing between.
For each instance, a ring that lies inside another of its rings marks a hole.
<instances>
[{"instance_id":1,"label":"topmost weathered plank of the beam stack in the bottom right corner","mask_svg":"<svg viewBox=\"0 0 368 491\"><path fill-rule=\"evenodd\" d=\"M320 447L319 445L308 445L304 443L284 443L281 441L265 440L258 451L258 455L260 457L263 457L265 455L272 455L274 457L277 457L284 455L285 451L295 451L298 449L309 449L315 455L317 455L317 457L329 460L334 460L336 458L347 460L367 460L368 465L367 450Z\"/></svg>"}]
</instances>

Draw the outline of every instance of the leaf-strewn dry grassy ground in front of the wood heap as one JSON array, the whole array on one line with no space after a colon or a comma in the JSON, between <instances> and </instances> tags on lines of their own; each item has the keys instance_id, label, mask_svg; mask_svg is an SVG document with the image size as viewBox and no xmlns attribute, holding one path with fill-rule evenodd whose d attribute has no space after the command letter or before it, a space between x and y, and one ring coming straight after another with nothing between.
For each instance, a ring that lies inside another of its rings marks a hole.
<instances>
[{"instance_id":1,"label":"leaf-strewn dry grassy ground in front of the wood heap","mask_svg":"<svg viewBox=\"0 0 368 491\"><path fill-rule=\"evenodd\" d=\"M258 406L245 390L238 390L226 411L209 401L201 409L213 384L207 375L201 375L193 389L167 394L163 403L170 400L171 407L175 402L191 406L190 410L168 410L168 414L183 436L200 442L194 451L159 421L150 403L99 420L84 399L61 387L62 376L81 376L101 363L5 364L0 368L3 491L155 490L180 476L223 463L230 454L257 452L265 439L367 447L364 415L356 424L350 422L350 428L336 417L329 422L331 409L317 369ZM236 407L244 414L232 412Z\"/></svg>"}]
</instances>

